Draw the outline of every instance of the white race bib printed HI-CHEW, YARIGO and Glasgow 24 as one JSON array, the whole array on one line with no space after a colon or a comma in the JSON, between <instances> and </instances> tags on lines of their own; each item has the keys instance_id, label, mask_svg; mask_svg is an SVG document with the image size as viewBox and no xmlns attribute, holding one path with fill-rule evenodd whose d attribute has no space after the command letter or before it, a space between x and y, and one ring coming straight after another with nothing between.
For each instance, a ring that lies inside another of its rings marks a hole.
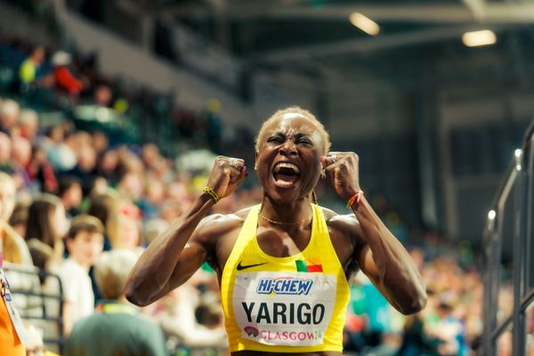
<instances>
[{"instance_id":1,"label":"white race bib printed HI-CHEW, YARIGO and Glasgow 24","mask_svg":"<svg viewBox=\"0 0 534 356\"><path fill-rule=\"evenodd\" d=\"M244 339L280 346L322 344L336 303L336 276L239 273L232 303Z\"/></svg>"}]
</instances>

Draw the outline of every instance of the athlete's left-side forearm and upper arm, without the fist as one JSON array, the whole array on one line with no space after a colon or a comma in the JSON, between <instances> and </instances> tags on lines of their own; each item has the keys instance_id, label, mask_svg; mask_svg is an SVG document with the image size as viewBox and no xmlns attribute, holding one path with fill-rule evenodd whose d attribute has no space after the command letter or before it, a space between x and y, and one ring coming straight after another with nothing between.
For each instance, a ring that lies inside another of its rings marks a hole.
<instances>
[{"instance_id":1,"label":"athlete's left-side forearm and upper arm, without the fist","mask_svg":"<svg viewBox=\"0 0 534 356\"><path fill-rule=\"evenodd\" d=\"M142 306L153 303L189 279L204 263L207 247L202 239L202 226L198 225L213 204L206 193L200 195L176 222L150 243L126 281L125 295L130 302ZM189 246L184 248L188 241Z\"/></svg>"}]
</instances>

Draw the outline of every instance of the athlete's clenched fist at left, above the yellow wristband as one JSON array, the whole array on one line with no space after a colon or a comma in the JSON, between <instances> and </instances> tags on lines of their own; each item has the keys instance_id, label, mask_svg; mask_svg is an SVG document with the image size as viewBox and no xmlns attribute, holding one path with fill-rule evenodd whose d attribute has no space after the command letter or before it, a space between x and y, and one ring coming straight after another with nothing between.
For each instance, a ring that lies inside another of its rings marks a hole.
<instances>
[{"instance_id":1,"label":"athlete's clenched fist at left, above the yellow wristband","mask_svg":"<svg viewBox=\"0 0 534 356\"><path fill-rule=\"evenodd\" d=\"M213 189L219 198L228 197L247 175L247 167L243 159L219 156L215 158L207 186Z\"/></svg>"}]
</instances>

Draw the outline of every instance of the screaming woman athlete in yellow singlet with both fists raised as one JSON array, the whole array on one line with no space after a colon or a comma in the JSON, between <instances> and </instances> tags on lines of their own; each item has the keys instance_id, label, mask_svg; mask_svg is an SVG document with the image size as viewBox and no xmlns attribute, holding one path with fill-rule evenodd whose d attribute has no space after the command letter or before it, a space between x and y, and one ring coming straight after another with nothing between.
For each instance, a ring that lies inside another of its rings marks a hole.
<instances>
[{"instance_id":1,"label":"screaming woman athlete in yellow singlet with both fists raised","mask_svg":"<svg viewBox=\"0 0 534 356\"><path fill-rule=\"evenodd\" d=\"M360 190L358 156L329 147L328 133L310 112L276 112L256 138L262 203L206 216L247 177L242 159L216 158L206 189L130 273L128 300L152 303L209 263L221 287L232 355L341 354L347 277L359 269L398 311L420 311L424 283ZM352 214L314 204L312 190L325 174Z\"/></svg>"}]
</instances>

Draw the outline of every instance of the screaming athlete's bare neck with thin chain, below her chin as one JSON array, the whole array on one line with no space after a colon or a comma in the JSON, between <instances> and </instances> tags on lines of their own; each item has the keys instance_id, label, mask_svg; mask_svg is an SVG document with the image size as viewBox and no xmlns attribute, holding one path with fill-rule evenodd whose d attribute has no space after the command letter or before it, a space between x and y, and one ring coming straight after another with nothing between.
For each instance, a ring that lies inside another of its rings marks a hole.
<instances>
[{"instance_id":1,"label":"screaming athlete's bare neck with thin chain, below her chin","mask_svg":"<svg viewBox=\"0 0 534 356\"><path fill-rule=\"evenodd\" d=\"M279 204L263 196L260 214L263 223L279 225L302 225L312 221L312 206L309 198L301 198L290 204ZM276 222L276 223L273 223Z\"/></svg>"}]
</instances>

